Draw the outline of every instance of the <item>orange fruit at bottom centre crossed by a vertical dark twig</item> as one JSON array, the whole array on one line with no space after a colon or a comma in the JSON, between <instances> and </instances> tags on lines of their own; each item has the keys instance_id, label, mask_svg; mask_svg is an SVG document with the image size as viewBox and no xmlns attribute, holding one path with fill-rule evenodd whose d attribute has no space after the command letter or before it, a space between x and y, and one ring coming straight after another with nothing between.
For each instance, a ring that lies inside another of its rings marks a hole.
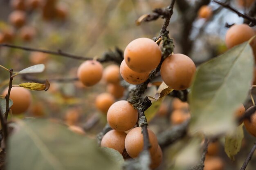
<instances>
[{"instance_id":1,"label":"orange fruit at bottom centre crossed by a vertical dark twig","mask_svg":"<svg viewBox=\"0 0 256 170\"><path fill-rule=\"evenodd\" d=\"M125 148L130 157L135 158L143 150L144 141L141 127L133 128L128 132L125 139ZM158 147L157 137L155 133L148 129L148 137L151 147L149 149L151 157L155 155Z\"/></svg>"}]
</instances>

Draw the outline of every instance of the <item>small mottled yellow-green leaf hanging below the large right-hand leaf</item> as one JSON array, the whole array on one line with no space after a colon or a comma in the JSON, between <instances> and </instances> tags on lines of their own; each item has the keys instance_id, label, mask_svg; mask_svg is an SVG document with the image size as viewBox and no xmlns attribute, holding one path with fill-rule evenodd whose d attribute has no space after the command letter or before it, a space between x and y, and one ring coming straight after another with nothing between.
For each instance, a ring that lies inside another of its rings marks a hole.
<instances>
[{"instance_id":1,"label":"small mottled yellow-green leaf hanging below the large right-hand leaf","mask_svg":"<svg viewBox=\"0 0 256 170\"><path fill-rule=\"evenodd\" d=\"M243 124L238 126L233 135L225 137L225 152L234 161L234 156L240 151L244 138Z\"/></svg>"}]
</instances>

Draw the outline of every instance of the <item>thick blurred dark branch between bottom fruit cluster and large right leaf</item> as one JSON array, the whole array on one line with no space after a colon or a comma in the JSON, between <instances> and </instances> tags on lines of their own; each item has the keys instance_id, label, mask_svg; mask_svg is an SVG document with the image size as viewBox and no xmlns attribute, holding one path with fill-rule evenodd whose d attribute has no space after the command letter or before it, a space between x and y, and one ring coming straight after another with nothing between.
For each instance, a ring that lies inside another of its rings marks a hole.
<instances>
[{"instance_id":1,"label":"thick blurred dark branch between bottom fruit cluster and large right leaf","mask_svg":"<svg viewBox=\"0 0 256 170\"><path fill-rule=\"evenodd\" d=\"M158 144L161 148L165 148L177 140L182 139L187 134L187 128L189 126L189 120L184 123L173 126L171 129L167 129L157 136Z\"/></svg>"}]
</instances>

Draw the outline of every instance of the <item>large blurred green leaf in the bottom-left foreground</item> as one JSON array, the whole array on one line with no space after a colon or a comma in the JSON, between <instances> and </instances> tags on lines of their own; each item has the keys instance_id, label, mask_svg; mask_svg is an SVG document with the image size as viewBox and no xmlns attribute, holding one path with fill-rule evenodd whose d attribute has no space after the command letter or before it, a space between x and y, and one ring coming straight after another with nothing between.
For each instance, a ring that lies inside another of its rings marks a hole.
<instances>
[{"instance_id":1,"label":"large blurred green leaf in the bottom-left foreground","mask_svg":"<svg viewBox=\"0 0 256 170\"><path fill-rule=\"evenodd\" d=\"M120 170L96 141L46 119L18 120L9 138L7 170Z\"/></svg>"}]
</instances>

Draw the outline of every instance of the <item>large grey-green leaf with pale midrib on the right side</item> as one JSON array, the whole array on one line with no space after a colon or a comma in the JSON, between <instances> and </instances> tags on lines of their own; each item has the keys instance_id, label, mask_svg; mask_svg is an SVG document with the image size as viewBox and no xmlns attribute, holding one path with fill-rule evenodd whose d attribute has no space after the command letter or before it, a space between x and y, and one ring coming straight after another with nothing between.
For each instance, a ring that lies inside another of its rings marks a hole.
<instances>
[{"instance_id":1,"label":"large grey-green leaf with pale midrib on the right side","mask_svg":"<svg viewBox=\"0 0 256 170\"><path fill-rule=\"evenodd\" d=\"M236 127L234 111L247 97L253 67L248 42L198 67L189 95L190 133L218 135Z\"/></svg>"}]
</instances>

